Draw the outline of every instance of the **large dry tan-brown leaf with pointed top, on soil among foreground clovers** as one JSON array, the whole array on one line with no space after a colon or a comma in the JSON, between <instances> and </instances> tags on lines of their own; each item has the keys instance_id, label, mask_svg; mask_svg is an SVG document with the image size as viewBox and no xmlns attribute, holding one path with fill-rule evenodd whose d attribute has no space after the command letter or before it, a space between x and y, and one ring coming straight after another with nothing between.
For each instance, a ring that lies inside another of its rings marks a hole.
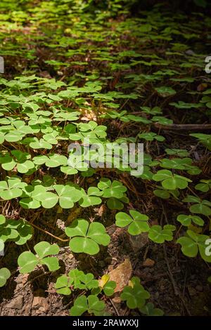
<instances>
[{"instance_id":1,"label":"large dry tan-brown leaf with pointed top, on soil among foreground clovers","mask_svg":"<svg viewBox=\"0 0 211 330\"><path fill-rule=\"evenodd\" d=\"M124 289L124 286L128 284L129 279L132 275L132 264L129 259L125 259L124 263L121 263L114 270L111 270L108 275L110 281L115 281L117 286L115 292L120 292Z\"/></svg>"}]
</instances>

